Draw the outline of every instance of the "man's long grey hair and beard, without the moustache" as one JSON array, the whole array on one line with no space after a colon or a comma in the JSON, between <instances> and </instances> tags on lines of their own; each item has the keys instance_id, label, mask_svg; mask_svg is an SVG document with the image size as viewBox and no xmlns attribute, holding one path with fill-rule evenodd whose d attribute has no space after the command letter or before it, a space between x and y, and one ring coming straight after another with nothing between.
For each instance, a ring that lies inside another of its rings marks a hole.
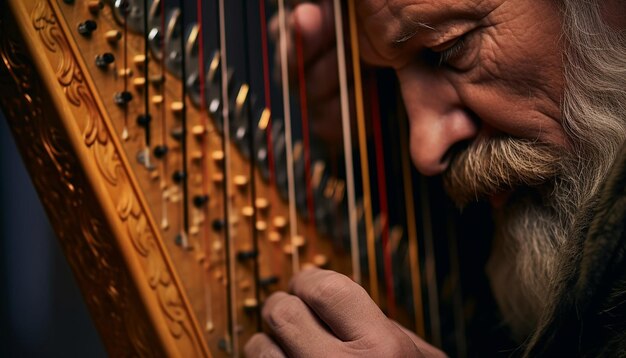
<instances>
[{"instance_id":1,"label":"man's long grey hair and beard, without the moustache","mask_svg":"<svg viewBox=\"0 0 626 358\"><path fill-rule=\"evenodd\" d=\"M626 31L607 23L603 1L561 4L562 118L572 151L555 180L540 192L517 193L498 214L487 268L504 320L520 340L556 304L555 279L567 270L558 261L563 245L591 219L586 208L594 206L626 138Z\"/></svg>"}]
</instances>

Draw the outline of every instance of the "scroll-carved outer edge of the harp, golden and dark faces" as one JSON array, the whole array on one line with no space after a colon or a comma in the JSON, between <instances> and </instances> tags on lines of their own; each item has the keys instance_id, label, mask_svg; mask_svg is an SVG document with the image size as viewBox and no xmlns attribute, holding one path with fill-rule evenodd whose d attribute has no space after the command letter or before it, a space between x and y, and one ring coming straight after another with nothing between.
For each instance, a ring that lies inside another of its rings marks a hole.
<instances>
[{"instance_id":1,"label":"scroll-carved outer edge of the harp, golden and dark faces","mask_svg":"<svg viewBox=\"0 0 626 358\"><path fill-rule=\"evenodd\" d=\"M22 6L21 1L15 3L19 5L12 6ZM105 121L59 24L55 5L36 2L30 16L38 37L30 40L38 39L38 43L31 44L30 50L8 30L11 11L5 3L0 6L0 88L17 94L0 101L110 353L160 356L172 352L175 348L165 347L155 327L163 322L179 354L208 355L158 232L148 218L145 201L140 199L119 142L112 137L110 123ZM37 74L29 56L35 52L33 47L38 47L40 57L45 52L46 58L37 62L47 62L55 69L57 85L72 107L73 118L61 118L59 110L52 110L55 106L43 85L45 79ZM82 147L73 146L76 142L71 137L76 133L70 128L79 128ZM88 162L79 159L85 158L79 152L87 154L97 172L86 169ZM112 213L99 202L98 193L113 203L119 223L104 219ZM115 227L122 228L125 237L119 237ZM124 251L121 240L130 242L134 250ZM140 264L149 291L134 282L139 276L133 274L129 260ZM146 300L156 302L152 306L160 315L146 307Z\"/></svg>"}]
</instances>

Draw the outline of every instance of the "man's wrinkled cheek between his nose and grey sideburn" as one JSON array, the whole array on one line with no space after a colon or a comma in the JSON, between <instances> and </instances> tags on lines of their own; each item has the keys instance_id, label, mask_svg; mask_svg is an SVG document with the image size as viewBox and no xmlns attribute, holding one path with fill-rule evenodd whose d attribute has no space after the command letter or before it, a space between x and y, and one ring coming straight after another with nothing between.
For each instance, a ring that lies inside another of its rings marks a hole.
<instances>
[{"instance_id":1,"label":"man's wrinkled cheek between his nose and grey sideburn","mask_svg":"<svg viewBox=\"0 0 626 358\"><path fill-rule=\"evenodd\" d=\"M560 24L531 20L539 21L520 15L485 29L478 65L454 82L485 130L561 144Z\"/></svg>"}]
</instances>

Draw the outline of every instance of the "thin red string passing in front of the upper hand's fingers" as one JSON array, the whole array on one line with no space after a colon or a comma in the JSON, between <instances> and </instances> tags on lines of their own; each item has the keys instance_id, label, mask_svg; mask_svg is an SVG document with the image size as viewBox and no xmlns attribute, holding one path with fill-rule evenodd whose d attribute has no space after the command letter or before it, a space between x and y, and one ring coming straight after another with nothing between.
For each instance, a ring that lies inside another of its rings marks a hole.
<instances>
[{"instance_id":1,"label":"thin red string passing in front of the upper hand's fingers","mask_svg":"<svg viewBox=\"0 0 626 358\"><path fill-rule=\"evenodd\" d=\"M298 84L300 90L300 111L302 112L302 141L304 142L304 177L306 183L306 201L309 218L315 227L315 205L313 188L311 187L311 146L309 143L309 111L306 97L306 79L304 75L304 52L302 48L302 32L296 25L296 57L298 59Z\"/></svg>"}]
</instances>

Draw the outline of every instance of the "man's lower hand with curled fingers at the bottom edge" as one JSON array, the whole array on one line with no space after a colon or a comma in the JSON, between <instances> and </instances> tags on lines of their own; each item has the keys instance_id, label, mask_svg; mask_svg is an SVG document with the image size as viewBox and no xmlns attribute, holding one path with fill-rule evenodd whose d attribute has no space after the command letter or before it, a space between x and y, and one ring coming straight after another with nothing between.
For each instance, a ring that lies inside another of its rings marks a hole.
<instances>
[{"instance_id":1,"label":"man's lower hand with curled fingers at the bottom edge","mask_svg":"<svg viewBox=\"0 0 626 358\"><path fill-rule=\"evenodd\" d=\"M332 271L296 275L290 293L277 292L263 307L270 332L246 344L247 357L444 357L389 320L365 290Z\"/></svg>"}]
</instances>

